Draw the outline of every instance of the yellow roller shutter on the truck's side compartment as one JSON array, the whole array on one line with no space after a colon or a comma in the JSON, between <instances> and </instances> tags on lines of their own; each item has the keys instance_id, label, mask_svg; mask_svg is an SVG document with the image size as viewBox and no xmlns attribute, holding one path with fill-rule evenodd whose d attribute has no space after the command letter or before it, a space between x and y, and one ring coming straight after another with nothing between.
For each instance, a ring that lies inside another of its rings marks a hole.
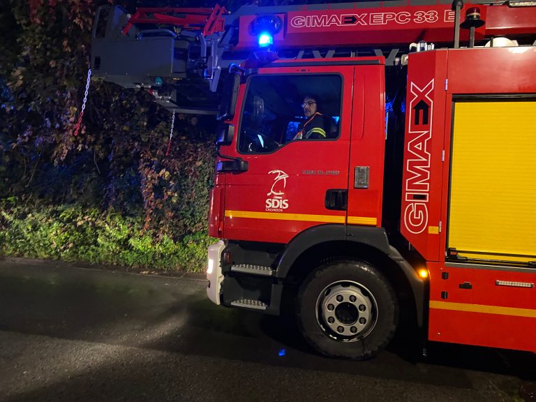
<instances>
[{"instance_id":1,"label":"yellow roller shutter on the truck's side compartment","mask_svg":"<svg viewBox=\"0 0 536 402\"><path fill-rule=\"evenodd\" d=\"M448 247L536 260L535 101L455 104Z\"/></svg>"}]
</instances>

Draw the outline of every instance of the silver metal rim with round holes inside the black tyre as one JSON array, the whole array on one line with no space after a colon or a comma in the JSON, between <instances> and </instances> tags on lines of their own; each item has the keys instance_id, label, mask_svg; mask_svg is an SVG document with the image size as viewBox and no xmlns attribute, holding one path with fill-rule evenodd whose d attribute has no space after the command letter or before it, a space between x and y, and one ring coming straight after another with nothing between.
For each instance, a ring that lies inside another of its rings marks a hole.
<instances>
[{"instance_id":1,"label":"silver metal rim with round holes inside the black tyre","mask_svg":"<svg viewBox=\"0 0 536 402\"><path fill-rule=\"evenodd\" d=\"M316 319L322 331L336 341L359 341L374 329L378 304L362 284L338 281L318 295Z\"/></svg>"}]
</instances>

